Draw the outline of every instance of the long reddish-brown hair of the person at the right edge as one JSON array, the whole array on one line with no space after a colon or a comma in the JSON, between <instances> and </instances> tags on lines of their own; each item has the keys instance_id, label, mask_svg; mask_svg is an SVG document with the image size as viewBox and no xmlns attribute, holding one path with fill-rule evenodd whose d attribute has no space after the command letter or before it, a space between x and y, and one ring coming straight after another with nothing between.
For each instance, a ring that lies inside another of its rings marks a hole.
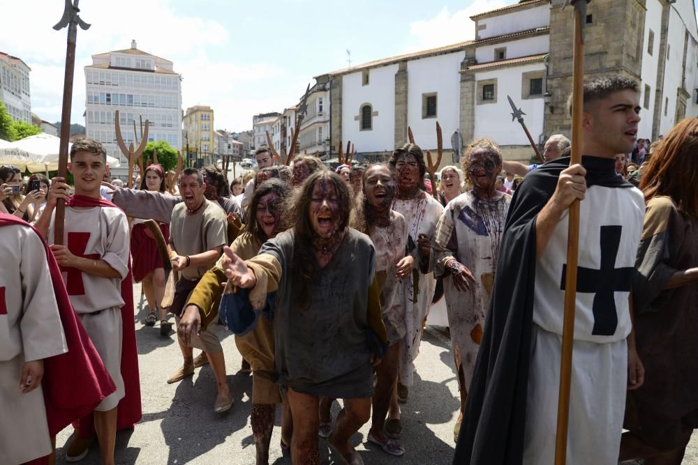
<instances>
[{"instance_id":1,"label":"long reddish-brown hair of the person at the right edge","mask_svg":"<svg viewBox=\"0 0 698 465\"><path fill-rule=\"evenodd\" d=\"M698 118L687 118L674 126L652 149L642 174L640 189L645 201L666 195L676 209L698 218Z\"/></svg>"}]
</instances>

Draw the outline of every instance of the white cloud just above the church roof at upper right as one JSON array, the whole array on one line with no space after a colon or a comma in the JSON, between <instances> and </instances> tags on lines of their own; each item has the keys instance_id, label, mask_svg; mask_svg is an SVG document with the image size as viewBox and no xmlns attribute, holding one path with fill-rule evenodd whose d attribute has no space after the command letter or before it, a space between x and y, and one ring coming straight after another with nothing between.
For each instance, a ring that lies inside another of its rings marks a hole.
<instances>
[{"instance_id":1,"label":"white cloud just above the church roof at upper right","mask_svg":"<svg viewBox=\"0 0 698 465\"><path fill-rule=\"evenodd\" d=\"M473 40L475 22L470 20L470 16L516 2L517 0L475 0L467 8L454 13L450 13L449 8L445 6L435 17L410 24L412 40L405 52L416 52Z\"/></svg>"}]
</instances>

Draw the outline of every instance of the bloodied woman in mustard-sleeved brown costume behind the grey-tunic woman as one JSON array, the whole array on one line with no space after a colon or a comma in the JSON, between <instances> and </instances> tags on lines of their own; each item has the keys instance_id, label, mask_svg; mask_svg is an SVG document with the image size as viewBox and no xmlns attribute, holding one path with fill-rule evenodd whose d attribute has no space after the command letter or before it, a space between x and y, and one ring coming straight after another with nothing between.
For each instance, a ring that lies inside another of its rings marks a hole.
<instances>
[{"instance_id":1,"label":"bloodied woman in mustard-sleeved brown costume behind the grey-tunic woman","mask_svg":"<svg viewBox=\"0 0 698 465\"><path fill-rule=\"evenodd\" d=\"M290 196L290 192L290 185L276 178L258 185L249 207L250 216L255 220L245 224L242 234L230 245L230 250L241 259L251 259L258 254L263 243L284 231L286 227L282 218L282 205ZM223 294L219 283L227 280L222 267L223 259L207 271L197 284L188 300L183 322L191 326L200 326L207 313L218 308L216 302ZM221 312L224 311L221 310ZM270 318L270 314L262 312L254 328L244 335L236 334L235 344L243 358L248 360L252 367L251 424L257 453L256 463L267 464L269 443L276 417L276 404L281 404L279 386L269 378L269 373L274 372L274 321ZM288 406L285 406L281 415L281 448L283 450L288 450L290 447L291 432L290 411Z\"/></svg>"}]
</instances>

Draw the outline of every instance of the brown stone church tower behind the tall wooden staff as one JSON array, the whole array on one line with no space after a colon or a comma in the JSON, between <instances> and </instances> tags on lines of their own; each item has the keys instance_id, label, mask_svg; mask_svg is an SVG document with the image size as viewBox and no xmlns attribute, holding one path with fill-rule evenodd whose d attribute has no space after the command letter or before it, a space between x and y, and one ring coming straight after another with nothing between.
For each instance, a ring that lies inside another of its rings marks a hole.
<instances>
[{"instance_id":1,"label":"brown stone church tower behind the tall wooden staff","mask_svg":"<svg viewBox=\"0 0 698 465\"><path fill-rule=\"evenodd\" d=\"M584 19L585 77L616 73L640 79L646 0L594 0ZM572 93L574 8L564 0L551 0L550 55L544 134L570 135L572 119L567 99Z\"/></svg>"}]
</instances>

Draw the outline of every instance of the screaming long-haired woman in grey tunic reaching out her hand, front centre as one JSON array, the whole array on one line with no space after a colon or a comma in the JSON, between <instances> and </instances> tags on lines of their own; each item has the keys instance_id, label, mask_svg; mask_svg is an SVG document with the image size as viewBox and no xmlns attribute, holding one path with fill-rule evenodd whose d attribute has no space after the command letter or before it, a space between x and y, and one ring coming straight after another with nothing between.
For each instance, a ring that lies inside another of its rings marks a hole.
<instances>
[{"instance_id":1,"label":"screaming long-haired woman in grey tunic reaching out her hand, front centre","mask_svg":"<svg viewBox=\"0 0 698 465\"><path fill-rule=\"evenodd\" d=\"M247 261L225 247L225 275L250 289L253 307L263 307L267 292L276 290L274 374L293 416L294 464L320 463L320 397L344 399L328 441L348 463L362 463L348 440L369 420L373 365L385 355L387 336L376 249L348 227L353 203L339 175L315 172L285 208L292 229Z\"/></svg>"}]
</instances>

